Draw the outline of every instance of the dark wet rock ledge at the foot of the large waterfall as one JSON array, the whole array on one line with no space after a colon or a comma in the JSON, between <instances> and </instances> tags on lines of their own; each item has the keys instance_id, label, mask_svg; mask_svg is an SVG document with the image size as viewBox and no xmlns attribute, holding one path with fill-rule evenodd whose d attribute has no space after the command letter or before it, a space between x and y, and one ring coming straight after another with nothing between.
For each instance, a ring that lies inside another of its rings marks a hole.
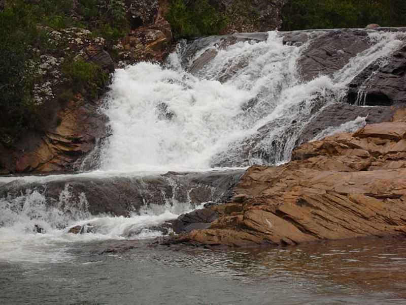
<instances>
[{"instance_id":1,"label":"dark wet rock ledge at the foot of the large waterfall","mask_svg":"<svg viewBox=\"0 0 406 305\"><path fill-rule=\"evenodd\" d=\"M45 198L48 206L60 208L66 213L85 209L83 212L91 215L127 217L143 208L163 212L165 205L176 202L188 208L208 201L227 201L232 195L228 191L243 173L243 170L168 172L163 175L98 178L71 175L54 177L51 181L39 177L38 182L15 180L0 186L0 197L13 205L23 203L15 198L29 197L37 192Z\"/></svg>"}]
</instances>

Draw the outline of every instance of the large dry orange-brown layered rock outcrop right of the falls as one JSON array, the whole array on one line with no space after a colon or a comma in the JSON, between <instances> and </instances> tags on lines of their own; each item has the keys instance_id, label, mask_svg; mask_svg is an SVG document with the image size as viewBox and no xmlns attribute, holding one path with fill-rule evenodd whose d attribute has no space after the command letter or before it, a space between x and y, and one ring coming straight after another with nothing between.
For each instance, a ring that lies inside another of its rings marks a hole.
<instances>
[{"instance_id":1,"label":"large dry orange-brown layered rock outcrop right of the falls","mask_svg":"<svg viewBox=\"0 0 406 305\"><path fill-rule=\"evenodd\" d=\"M288 164L248 169L234 188L238 200L210 208L216 220L167 242L241 247L404 236L405 151L405 119L303 144Z\"/></svg>"}]
</instances>

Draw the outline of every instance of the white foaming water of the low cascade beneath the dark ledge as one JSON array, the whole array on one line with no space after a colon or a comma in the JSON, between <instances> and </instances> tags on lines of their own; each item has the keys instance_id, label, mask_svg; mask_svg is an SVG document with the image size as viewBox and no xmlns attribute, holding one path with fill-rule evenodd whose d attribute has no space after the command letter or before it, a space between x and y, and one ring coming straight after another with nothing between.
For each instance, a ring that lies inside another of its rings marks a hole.
<instances>
[{"instance_id":1,"label":"white foaming water of the low cascade beneath the dark ledge","mask_svg":"<svg viewBox=\"0 0 406 305\"><path fill-rule=\"evenodd\" d=\"M21 196L0 199L0 262L58 263L73 258L69 253L72 243L158 237L162 231L156 226L191 210L189 203L168 200L164 205L146 206L130 217L94 217L87 210L86 197L73 198L69 185L56 206L38 191L27 190ZM91 230L68 232L77 225Z\"/></svg>"}]
</instances>

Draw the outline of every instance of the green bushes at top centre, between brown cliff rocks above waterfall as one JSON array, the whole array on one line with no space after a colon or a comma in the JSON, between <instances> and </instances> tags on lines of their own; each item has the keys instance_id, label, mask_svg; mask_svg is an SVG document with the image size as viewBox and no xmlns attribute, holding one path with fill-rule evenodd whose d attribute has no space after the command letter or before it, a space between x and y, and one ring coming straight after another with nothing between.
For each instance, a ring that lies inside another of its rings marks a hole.
<instances>
[{"instance_id":1,"label":"green bushes at top centre, between brown cliff rocks above waterfall","mask_svg":"<svg viewBox=\"0 0 406 305\"><path fill-rule=\"evenodd\" d=\"M227 18L208 0L172 0L166 19L175 39L219 34Z\"/></svg>"}]
</instances>

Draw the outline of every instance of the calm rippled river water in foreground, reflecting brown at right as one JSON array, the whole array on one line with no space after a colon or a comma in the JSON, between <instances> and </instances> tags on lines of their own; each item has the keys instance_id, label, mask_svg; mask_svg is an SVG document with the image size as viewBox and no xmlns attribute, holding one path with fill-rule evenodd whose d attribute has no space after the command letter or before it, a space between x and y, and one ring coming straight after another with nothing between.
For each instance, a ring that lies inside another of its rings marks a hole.
<instances>
[{"instance_id":1,"label":"calm rippled river water in foreground, reflecting brown at right","mask_svg":"<svg viewBox=\"0 0 406 305\"><path fill-rule=\"evenodd\" d=\"M66 261L0 262L1 303L406 303L405 241L230 251L173 251L137 243L124 253L97 254L110 246L78 243Z\"/></svg>"}]
</instances>

